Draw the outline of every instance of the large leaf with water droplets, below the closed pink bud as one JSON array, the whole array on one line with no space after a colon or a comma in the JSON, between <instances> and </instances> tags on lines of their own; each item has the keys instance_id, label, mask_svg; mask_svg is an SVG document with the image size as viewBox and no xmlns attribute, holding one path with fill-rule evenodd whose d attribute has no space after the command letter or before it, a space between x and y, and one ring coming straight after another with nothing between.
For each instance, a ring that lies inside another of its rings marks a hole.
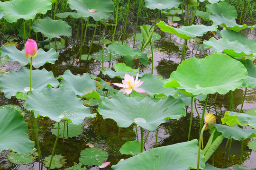
<instances>
[{"instance_id":1,"label":"large leaf with water droplets, below the closed pink bud","mask_svg":"<svg viewBox=\"0 0 256 170\"><path fill-rule=\"evenodd\" d=\"M82 104L74 92L63 87L48 87L40 93L32 91L27 95L27 110L34 110L35 117L49 117L56 122L68 120L73 124L82 124L84 118L94 118L89 107Z\"/></svg>"}]
</instances>

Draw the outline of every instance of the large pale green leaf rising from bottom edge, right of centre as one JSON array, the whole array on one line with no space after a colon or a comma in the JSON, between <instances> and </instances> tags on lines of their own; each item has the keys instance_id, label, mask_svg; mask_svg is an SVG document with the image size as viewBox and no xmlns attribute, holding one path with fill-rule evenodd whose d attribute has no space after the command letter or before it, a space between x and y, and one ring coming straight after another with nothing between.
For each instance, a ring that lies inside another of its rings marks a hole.
<instances>
[{"instance_id":1,"label":"large pale green leaf rising from bottom edge, right of centre","mask_svg":"<svg viewBox=\"0 0 256 170\"><path fill-rule=\"evenodd\" d=\"M197 167L198 141L162 146L139 153L113 165L113 170L190 170ZM205 166L201 151L200 169Z\"/></svg>"}]
</instances>

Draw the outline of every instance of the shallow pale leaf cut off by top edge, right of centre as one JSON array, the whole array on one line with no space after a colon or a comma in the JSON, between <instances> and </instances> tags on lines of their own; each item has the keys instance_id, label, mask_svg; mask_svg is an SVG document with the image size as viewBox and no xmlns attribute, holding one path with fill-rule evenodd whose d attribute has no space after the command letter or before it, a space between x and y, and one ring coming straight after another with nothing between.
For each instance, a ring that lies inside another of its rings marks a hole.
<instances>
[{"instance_id":1,"label":"shallow pale leaf cut off by top edge, right of centre","mask_svg":"<svg viewBox=\"0 0 256 170\"><path fill-rule=\"evenodd\" d=\"M182 2L182 0L145 0L145 6L150 9L171 9L179 7Z\"/></svg>"}]
</instances>

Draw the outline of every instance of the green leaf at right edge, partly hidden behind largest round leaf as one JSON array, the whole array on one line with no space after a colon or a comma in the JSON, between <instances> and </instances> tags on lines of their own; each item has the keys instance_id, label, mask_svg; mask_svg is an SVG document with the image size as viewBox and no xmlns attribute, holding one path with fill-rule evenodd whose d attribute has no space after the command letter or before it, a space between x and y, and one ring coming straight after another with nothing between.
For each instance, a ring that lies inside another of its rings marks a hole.
<instances>
[{"instance_id":1,"label":"green leaf at right edge, partly hidden behind largest round leaf","mask_svg":"<svg viewBox=\"0 0 256 170\"><path fill-rule=\"evenodd\" d=\"M250 59L238 59L248 72L248 79L243 81L243 87L253 88L256 87L256 66Z\"/></svg>"}]
</instances>

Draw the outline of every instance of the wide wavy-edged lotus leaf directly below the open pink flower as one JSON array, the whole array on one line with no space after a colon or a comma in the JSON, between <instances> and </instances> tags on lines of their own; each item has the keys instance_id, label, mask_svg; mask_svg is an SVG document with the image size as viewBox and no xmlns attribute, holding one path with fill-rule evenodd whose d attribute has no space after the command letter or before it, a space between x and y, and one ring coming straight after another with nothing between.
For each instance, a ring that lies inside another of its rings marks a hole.
<instances>
[{"instance_id":1,"label":"wide wavy-edged lotus leaf directly below the open pink flower","mask_svg":"<svg viewBox=\"0 0 256 170\"><path fill-rule=\"evenodd\" d=\"M169 96L154 102L151 97L125 97L124 93L103 99L98 111L103 119L113 119L119 127L129 127L134 122L149 131L155 130L167 119L180 119L186 115L181 99Z\"/></svg>"}]
</instances>

